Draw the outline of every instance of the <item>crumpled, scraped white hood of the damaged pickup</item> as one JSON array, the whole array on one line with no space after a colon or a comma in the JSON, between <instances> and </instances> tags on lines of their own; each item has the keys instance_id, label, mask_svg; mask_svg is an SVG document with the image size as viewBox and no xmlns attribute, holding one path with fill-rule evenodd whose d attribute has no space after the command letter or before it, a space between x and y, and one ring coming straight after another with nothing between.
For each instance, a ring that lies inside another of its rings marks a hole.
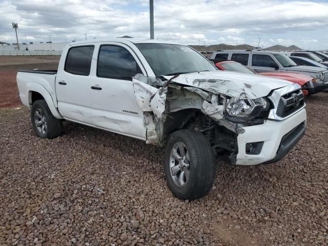
<instances>
[{"instance_id":1,"label":"crumpled, scraped white hood of the damaged pickup","mask_svg":"<svg viewBox=\"0 0 328 246\"><path fill-rule=\"evenodd\" d=\"M173 76L163 77L170 79ZM282 79L229 71L180 74L178 77L173 78L171 83L242 99L267 96L274 89L292 85L292 83Z\"/></svg>"}]
</instances>

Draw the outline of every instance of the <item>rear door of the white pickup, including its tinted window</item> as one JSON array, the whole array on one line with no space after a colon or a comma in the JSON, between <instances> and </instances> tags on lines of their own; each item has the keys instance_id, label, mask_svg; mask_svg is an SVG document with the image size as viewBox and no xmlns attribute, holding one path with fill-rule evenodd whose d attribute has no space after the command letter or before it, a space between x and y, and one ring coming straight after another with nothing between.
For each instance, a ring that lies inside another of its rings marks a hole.
<instances>
[{"instance_id":1,"label":"rear door of the white pickup, including its tinted window","mask_svg":"<svg viewBox=\"0 0 328 246\"><path fill-rule=\"evenodd\" d=\"M55 81L59 113L87 125L92 124L89 83L93 51L93 45L70 48L66 60L60 61Z\"/></svg>"}]
</instances>

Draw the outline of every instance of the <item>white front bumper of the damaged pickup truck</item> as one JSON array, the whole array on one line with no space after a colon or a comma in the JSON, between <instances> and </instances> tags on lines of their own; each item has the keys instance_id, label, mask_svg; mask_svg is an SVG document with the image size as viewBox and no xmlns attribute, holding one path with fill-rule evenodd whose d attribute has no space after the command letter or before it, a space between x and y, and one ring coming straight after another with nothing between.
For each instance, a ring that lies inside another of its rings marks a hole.
<instances>
[{"instance_id":1,"label":"white front bumper of the damaged pickup truck","mask_svg":"<svg viewBox=\"0 0 328 246\"><path fill-rule=\"evenodd\" d=\"M262 125L243 127L245 132L237 136L236 165L257 165L280 160L301 139L305 127L305 109L284 120L266 120ZM258 154L246 153L246 145L251 142L263 142Z\"/></svg>"}]
</instances>

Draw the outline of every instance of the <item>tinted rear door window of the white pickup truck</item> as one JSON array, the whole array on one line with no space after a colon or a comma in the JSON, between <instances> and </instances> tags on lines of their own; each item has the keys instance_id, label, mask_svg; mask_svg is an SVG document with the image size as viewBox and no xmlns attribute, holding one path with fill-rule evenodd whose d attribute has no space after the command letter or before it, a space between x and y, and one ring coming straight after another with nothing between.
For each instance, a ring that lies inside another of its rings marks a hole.
<instances>
[{"instance_id":1,"label":"tinted rear door window of the white pickup truck","mask_svg":"<svg viewBox=\"0 0 328 246\"><path fill-rule=\"evenodd\" d=\"M68 51L64 70L68 73L88 76L90 74L94 46L73 47Z\"/></svg>"}]
</instances>

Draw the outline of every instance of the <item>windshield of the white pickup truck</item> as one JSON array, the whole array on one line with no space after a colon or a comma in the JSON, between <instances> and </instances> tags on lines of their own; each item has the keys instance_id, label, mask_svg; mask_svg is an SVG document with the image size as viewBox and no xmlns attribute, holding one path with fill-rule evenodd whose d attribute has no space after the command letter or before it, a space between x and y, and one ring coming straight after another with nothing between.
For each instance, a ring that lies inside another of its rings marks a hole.
<instances>
[{"instance_id":1,"label":"windshield of the white pickup truck","mask_svg":"<svg viewBox=\"0 0 328 246\"><path fill-rule=\"evenodd\" d=\"M184 45L135 44L157 77L201 71L215 71L205 57Z\"/></svg>"}]
</instances>

